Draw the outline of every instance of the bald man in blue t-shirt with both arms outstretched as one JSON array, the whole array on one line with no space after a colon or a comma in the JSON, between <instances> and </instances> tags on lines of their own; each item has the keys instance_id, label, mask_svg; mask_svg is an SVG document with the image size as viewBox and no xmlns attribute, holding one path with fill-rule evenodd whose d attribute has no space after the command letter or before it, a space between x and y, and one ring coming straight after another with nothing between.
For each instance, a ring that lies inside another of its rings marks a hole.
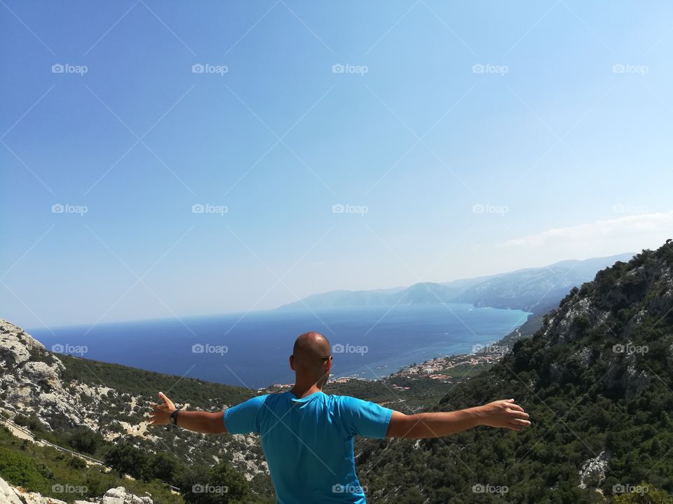
<instances>
[{"instance_id":1,"label":"bald man in blue t-shirt with both arms outstretched","mask_svg":"<svg viewBox=\"0 0 673 504\"><path fill-rule=\"evenodd\" d=\"M294 342L292 390L259 395L223 412L175 409L163 393L151 424L175 423L199 433L261 435L279 504L365 504L355 474L353 437L421 439L476 426L522 430L529 416L513 399L454 412L407 415L374 402L322 392L332 370L331 346L319 332Z\"/></svg>"}]
</instances>

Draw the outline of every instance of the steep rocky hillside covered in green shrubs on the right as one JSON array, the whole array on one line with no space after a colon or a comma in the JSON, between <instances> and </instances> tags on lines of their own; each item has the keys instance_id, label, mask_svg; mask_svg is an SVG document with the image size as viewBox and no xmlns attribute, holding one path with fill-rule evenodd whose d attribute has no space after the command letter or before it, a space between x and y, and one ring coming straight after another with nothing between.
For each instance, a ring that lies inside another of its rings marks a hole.
<instances>
[{"instance_id":1,"label":"steep rocky hillside covered in green shrubs on the right","mask_svg":"<svg viewBox=\"0 0 673 504\"><path fill-rule=\"evenodd\" d=\"M620 491L646 482L650 496L657 488L673 492L672 369L669 240L574 288L531 339L437 407L515 398L531 428L362 442L362 479L385 503L473 502L474 489L484 488L496 491L478 496L481 502L604 502L601 493L621 496L616 502L669 502ZM580 480L591 459L596 467L607 461L606 468Z\"/></svg>"}]
</instances>

